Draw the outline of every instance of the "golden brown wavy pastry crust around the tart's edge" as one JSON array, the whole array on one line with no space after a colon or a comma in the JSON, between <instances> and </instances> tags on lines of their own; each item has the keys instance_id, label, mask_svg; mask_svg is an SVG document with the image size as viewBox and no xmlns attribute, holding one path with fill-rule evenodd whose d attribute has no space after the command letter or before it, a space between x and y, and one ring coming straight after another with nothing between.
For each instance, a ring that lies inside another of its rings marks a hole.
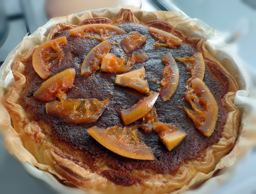
<instances>
[{"instance_id":1,"label":"golden brown wavy pastry crust around the tart's edge","mask_svg":"<svg viewBox=\"0 0 256 194\"><path fill-rule=\"evenodd\" d=\"M95 19L93 20L95 21ZM145 24L139 21L128 9L122 9L111 20L115 24L123 22ZM4 106L11 116L13 127L20 135L25 148L35 156L37 161L50 165L68 181L80 187L104 190L105 192L111 191L112 193L172 192L182 188L192 179L195 179L195 184L200 184L206 178L210 178L213 173L210 173L204 179L201 178L200 173L208 174L211 172L220 159L226 155L235 144L239 125L239 111L233 104L235 92L238 89L235 79L228 73L225 67L205 49L203 38L186 37L183 33L175 31L171 25L165 22L152 21L148 22L146 25L172 32L183 41L195 45L199 51L202 51L205 63L210 66L212 71L215 72L215 75L228 83L229 92L222 99L223 105L228 109L227 121L222 132L222 137L216 145L208 147L201 154L201 157L185 161L175 175L149 174L142 170L134 170L132 173L138 177L142 177L144 181L129 187L115 185L103 176L92 172L79 158L63 153L59 148L53 146L51 138L45 136L43 133L47 127L41 127L42 123L38 124L33 120L28 120L23 108L17 104L21 90L26 83L26 78L22 74L24 66L26 66L28 58L32 56L37 47L33 46L14 62L12 72L15 82L10 86L5 95ZM52 28L51 35L49 35L52 36L53 32L56 32L56 29L58 31L58 29L61 28L62 25L55 25ZM198 174L198 172L200 173Z\"/></svg>"}]
</instances>

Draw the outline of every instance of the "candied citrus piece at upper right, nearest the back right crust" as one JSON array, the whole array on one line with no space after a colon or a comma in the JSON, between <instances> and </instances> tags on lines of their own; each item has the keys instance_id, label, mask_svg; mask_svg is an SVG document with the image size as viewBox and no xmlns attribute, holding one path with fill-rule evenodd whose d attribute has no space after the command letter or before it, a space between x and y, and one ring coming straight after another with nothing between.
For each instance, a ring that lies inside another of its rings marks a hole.
<instances>
[{"instance_id":1,"label":"candied citrus piece at upper right, nearest the back right crust","mask_svg":"<svg viewBox=\"0 0 256 194\"><path fill-rule=\"evenodd\" d=\"M182 40L177 36L174 36L169 32L165 32L154 27L149 27L149 34L155 38L156 43L154 45L156 47L166 46L170 48L175 48L182 43Z\"/></svg>"}]
</instances>

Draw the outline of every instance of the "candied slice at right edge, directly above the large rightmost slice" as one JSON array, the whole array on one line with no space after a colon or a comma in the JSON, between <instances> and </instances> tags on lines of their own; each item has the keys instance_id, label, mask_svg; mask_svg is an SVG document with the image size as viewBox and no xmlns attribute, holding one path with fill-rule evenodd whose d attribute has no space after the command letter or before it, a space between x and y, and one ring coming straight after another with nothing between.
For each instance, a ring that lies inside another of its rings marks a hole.
<instances>
[{"instance_id":1,"label":"candied slice at right edge, directly above the large rightmost slice","mask_svg":"<svg viewBox=\"0 0 256 194\"><path fill-rule=\"evenodd\" d=\"M186 70L191 74L189 81L195 78L199 78L200 80L204 79L205 65L202 53L196 53L192 57L176 58L175 60L185 64Z\"/></svg>"}]
</instances>

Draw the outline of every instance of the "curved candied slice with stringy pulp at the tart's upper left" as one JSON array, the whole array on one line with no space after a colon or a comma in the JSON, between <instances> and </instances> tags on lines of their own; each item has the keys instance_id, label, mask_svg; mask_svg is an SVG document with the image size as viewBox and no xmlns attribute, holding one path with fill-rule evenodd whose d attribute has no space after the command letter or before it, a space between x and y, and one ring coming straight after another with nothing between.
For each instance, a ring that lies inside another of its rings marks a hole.
<instances>
[{"instance_id":1,"label":"curved candied slice with stringy pulp at the tart's upper left","mask_svg":"<svg viewBox=\"0 0 256 194\"><path fill-rule=\"evenodd\" d=\"M46 79L51 75L51 66L59 64L64 58L64 53L60 49L64 44L67 44L66 36L44 42L36 48L33 54L33 67L41 78Z\"/></svg>"}]
</instances>

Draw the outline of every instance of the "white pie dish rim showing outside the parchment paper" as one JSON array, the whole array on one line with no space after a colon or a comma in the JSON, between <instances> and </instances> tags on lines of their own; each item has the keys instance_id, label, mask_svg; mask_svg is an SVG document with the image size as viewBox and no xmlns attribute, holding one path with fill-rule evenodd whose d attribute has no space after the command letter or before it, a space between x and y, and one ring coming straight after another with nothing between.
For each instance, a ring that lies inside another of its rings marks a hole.
<instances>
[{"instance_id":1,"label":"white pie dish rim showing outside the parchment paper","mask_svg":"<svg viewBox=\"0 0 256 194\"><path fill-rule=\"evenodd\" d=\"M97 10L87 10L84 12L80 12L77 13L78 16L83 15L85 12L88 11L92 11L92 12L96 12L96 13L100 13L100 12L104 12L109 8L101 8L101 9L97 9ZM38 34L39 29L36 30L33 34ZM20 47L20 44L13 49L10 54L7 56L6 61L10 60L10 58L12 57L12 55L15 53L15 51ZM240 61L241 62L241 61ZM2 65L2 67L0 68L0 76L1 74L3 74L3 70L4 70L4 64ZM240 70L244 70L243 67L240 68ZM244 79L244 90L248 91L249 88L249 80L248 80L248 76L244 71L241 71L241 76ZM1 86L1 83L0 83ZM243 91L243 90L242 90ZM247 93L246 93L247 94ZM248 95L248 94L247 94ZM241 104L241 103L240 103ZM1 131L0 131L1 132ZM0 134L1 135L1 134ZM14 156L15 157L15 156ZM17 159L18 160L18 159ZM18 160L19 161L19 160ZM184 194L205 194L205 193L209 193L209 190L211 191L212 188L218 188L223 182L229 180L235 173L235 169L236 169L236 165L237 163L239 163L239 161L236 161L236 163L234 165L232 165L229 168L224 168L221 169L217 175L215 175L214 177L212 177L211 179L207 180L206 182L204 182L199 188L197 188L196 190L189 190L189 191L185 191L183 192ZM86 193L84 190L81 189L77 189L77 188L71 188L68 186L65 186L63 184L61 184L52 174L45 172L43 170L39 170L38 168L36 168L34 165L30 164L28 161L25 161L23 163L21 163L21 166L24 168L24 170L28 173L28 175L34 177L36 180L40 180L45 182L47 185L49 185L50 188L52 188L52 190L56 191L57 193L61 193L61 194L81 194L81 193ZM218 176L221 175L221 178Z\"/></svg>"}]
</instances>

